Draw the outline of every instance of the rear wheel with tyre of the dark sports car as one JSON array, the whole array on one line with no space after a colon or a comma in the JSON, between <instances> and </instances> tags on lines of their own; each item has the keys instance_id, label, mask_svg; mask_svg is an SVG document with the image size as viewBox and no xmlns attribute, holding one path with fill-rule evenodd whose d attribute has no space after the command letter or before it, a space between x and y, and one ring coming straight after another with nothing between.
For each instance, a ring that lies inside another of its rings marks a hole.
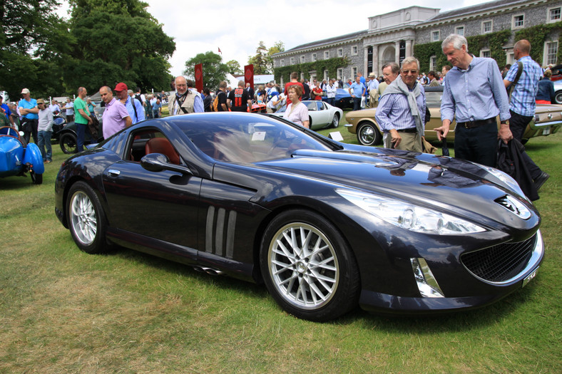
<instances>
[{"instance_id":1,"label":"rear wheel with tyre of the dark sports car","mask_svg":"<svg viewBox=\"0 0 562 374\"><path fill-rule=\"evenodd\" d=\"M107 252L106 215L96 192L86 182L76 182L68 196L68 227L78 248L89 254Z\"/></svg>"}]
</instances>

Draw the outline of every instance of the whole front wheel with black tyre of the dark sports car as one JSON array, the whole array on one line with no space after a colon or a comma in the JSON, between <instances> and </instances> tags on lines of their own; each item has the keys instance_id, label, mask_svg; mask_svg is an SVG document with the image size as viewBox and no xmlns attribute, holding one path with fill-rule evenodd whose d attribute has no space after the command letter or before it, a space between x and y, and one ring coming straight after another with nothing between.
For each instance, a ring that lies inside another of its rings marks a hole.
<instances>
[{"instance_id":1,"label":"whole front wheel with black tyre of the dark sports car","mask_svg":"<svg viewBox=\"0 0 562 374\"><path fill-rule=\"evenodd\" d=\"M260 268L272 297L297 318L329 321L357 306L354 256L337 228L314 212L295 209L272 220Z\"/></svg>"}]
</instances>

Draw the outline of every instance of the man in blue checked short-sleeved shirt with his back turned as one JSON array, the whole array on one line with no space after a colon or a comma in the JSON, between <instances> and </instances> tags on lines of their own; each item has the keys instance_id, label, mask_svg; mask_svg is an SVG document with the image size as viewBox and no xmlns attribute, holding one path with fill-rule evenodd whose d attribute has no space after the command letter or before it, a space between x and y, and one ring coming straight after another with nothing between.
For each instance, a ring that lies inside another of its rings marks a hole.
<instances>
[{"instance_id":1,"label":"man in blue checked short-sleeved shirt with his back turned","mask_svg":"<svg viewBox=\"0 0 562 374\"><path fill-rule=\"evenodd\" d=\"M512 88L511 100L509 103L509 113L511 119L509 120L509 128L513 133L514 138L520 142L523 140L523 133L527 125L533 119L536 109L536 93L538 91L538 80L543 76L543 70L538 63L533 61L531 56L531 43L522 39L514 45L514 58L517 62L523 64L523 71L517 80L515 87ZM517 71L519 70L518 63L514 63L507 72L504 84L506 88L515 82ZM544 182L550 177L546 172L543 172L534 162L531 157L523 153L523 160L527 166L531 178L535 182L536 189L541 188Z\"/></svg>"}]
</instances>

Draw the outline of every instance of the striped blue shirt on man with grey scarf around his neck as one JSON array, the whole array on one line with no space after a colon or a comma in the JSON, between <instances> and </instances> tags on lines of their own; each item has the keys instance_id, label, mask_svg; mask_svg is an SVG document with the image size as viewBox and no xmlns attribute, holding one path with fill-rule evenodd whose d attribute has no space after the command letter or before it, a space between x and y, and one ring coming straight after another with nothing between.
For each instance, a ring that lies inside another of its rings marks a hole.
<instances>
[{"instance_id":1,"label":"striped blue shirt on man with grey scarf around his neck","mask_svg":"<svg viewBox=\"0 0 562 374\"><path fill-rule=\"evenodd\" d=\"M416 82L416 84L420 83ZM420 90L421 93L416 98L416 103L420 118L422 119L422 124L425 124L425 91L421 85ZM410 110L408 98L402 93L382 95L374 117L384 133L388 133L393 129L404 130L416 127L416 120L414 120L412 110Z\"/></svg>"}]
</instances>

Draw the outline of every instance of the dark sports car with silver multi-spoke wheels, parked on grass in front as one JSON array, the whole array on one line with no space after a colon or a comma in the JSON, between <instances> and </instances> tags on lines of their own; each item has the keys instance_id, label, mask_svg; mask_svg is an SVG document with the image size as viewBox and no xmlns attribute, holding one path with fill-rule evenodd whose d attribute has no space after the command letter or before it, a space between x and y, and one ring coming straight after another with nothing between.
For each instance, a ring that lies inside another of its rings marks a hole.
<instances>
[{"instance_id":1,"label":"dark sports car with silver multi-spoke wheels, parked on grass in front","mask_svg":"<svg viewBox=\"0 0 562 374\"><path fill-rule=\"evenodd\" d=\"M543 259L538 212L503 172L252 113L147 120L74 155L56 215L83 251L263 282L312 321L484 306Z\"/></svg>"}]
</instances>

